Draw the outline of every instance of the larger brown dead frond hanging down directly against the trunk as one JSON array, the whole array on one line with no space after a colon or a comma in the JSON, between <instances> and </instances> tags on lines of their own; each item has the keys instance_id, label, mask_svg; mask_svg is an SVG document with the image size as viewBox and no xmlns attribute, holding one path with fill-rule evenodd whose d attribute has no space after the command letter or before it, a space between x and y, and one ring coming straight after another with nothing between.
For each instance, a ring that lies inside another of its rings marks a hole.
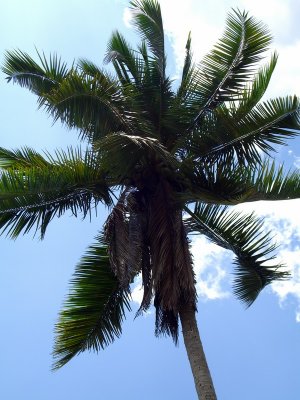
<instances>
[{"instance_id":1,"label":"larger brown dead frond hanging down directly against the trunk","mask_svg":"<svg viewBox=\"0 0 300 400\"><path fill-rule=\"evenodd\" d=\"M170 185L158 182L148 194L148 238L151 286L155 295L156 333L177 341L178 312L182 304L195 307L192 260L181 211L172 202Z\"/></svg>"}]
</instances>

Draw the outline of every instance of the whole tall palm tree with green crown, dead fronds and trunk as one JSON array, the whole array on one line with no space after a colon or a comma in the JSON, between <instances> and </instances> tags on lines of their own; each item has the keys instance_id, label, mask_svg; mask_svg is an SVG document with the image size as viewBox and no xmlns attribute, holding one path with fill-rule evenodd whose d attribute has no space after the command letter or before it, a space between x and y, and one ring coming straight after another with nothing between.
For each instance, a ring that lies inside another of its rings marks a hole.
<instances>
[{"instance_id":1,"label":"whole tall palm tree with green crown, dead fronds and trunk","mask_svg":"<svg viewBox=\"0 0 300 400\"><path fill-rule=\"evenodd\" d=\"M222 38L195 64L191 36L182 77L166 75L164 31L156 0L133 0L141 43L133 50L115 31L106 62L70 68L56 55L39 62L6 53L8 81L37 95L39 107L79 131L82 148L41 155L0 149L0 227L15 238L71 211L86 217L109 209L103 229L78 263L56 325L54 369L121 334L130 284L142 275L138 314L153 300L155 334L178 340L179 320L201 399L216 399L200 341L189 234L203 234L235 255L233 291L250 306L288 274L273 259L262 221L232 207L300 197L297 172L271 153L299 133L296 97L261 101L276 65L258 64L271 42L267 28L233 11Z\"/></svg>"}]
</instances>

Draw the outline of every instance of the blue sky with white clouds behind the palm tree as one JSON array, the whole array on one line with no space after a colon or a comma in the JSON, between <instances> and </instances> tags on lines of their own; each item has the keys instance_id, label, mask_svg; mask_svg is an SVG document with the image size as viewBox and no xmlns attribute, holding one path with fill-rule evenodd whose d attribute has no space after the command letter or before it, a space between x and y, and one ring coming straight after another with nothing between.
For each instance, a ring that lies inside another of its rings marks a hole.
<instances>
[{"instance_id":1,"label":"blue sky with white clouds behind the palm tree","mask_svg":"<svg viewBox=\"0 0 300 400\"><path fill-rule=\"evenodd\" d=\"M268 96L300 95L300 10L294 0L161 1L167 32L169 72L176 78L192 30L195 58L210 49L231 7L247 9L268 24L279 52ZM100 65L114 29L134 44L127 1L10 0L1 4L0 54L20 48L34 55L57 52L69 62L79 57ZM77 134L37 111L35 98L0 78L0 146L54 150L76 144ZM300 167L300 138L277 159ZM195 239L198 322L220 400L297 400L300 393L300 217L299 202L243 206L266 216L282 243L279 257L292 279L264 291L245 310L230 292L231 258L204 239ZM123 336L98 355L85 353L56 373L50 371L53 328L74 265L93 241L106 216L92 222L65 215L53 221L44 241L32 235L0 238L2 383L6 400L196 399L182 341L154 337L154 315L128 315ZM138 301L140 287L134 289ZM133 309L137 303L133 303Z\"/></svg>"}]
</instances>

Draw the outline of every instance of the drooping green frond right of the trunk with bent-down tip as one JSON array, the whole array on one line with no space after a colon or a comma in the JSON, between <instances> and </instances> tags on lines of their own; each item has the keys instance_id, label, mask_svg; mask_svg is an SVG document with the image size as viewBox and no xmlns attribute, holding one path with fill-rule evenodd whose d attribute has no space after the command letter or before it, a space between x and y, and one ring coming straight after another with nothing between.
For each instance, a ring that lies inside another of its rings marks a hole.
<instances>
[{"instance_id":1,"label":"drooping green frond right of the trunk with bent-down tip","mask_svg":"<svg viewBox=\"0 0 300 400\"><path fill-rule=\"evenodd\" d=\"M186 225L191 232L204 234L217 245L235 254L234 294L250 306L260 291L274 280L289 276L284 265L270 263L276 246L270 233L262 233L263 221L253 214L228 212L216 205L196 203Z\"/></svg>"}]
</instances>

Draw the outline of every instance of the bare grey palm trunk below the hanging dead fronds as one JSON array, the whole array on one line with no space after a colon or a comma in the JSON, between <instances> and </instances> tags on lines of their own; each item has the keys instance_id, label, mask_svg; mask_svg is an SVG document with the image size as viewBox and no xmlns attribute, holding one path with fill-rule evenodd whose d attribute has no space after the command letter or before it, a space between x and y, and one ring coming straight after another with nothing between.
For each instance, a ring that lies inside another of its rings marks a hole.
<instances>
[{"instance_id":1,"label":"bare grey palm trunk below the hanging dead fronds","mask_svg":"<svg viewBox=\"0 0 300 400\"><path fill-rule=\"evenodd\" d=\"M216 400L217 396L201 343L195 311L192 306L187 305L181 308L179 316L198 398L201 400Z\"/></svg>"}]
</instances>

